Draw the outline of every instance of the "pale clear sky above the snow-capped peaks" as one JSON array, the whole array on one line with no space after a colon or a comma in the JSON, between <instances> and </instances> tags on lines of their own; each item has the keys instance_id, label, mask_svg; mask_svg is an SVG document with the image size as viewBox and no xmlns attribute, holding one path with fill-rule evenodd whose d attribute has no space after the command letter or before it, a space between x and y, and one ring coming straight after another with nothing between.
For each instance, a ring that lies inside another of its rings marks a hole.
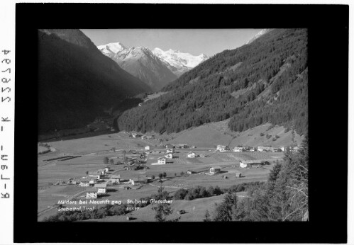
<instances>
[{"instance_id":1,"label":"pale clear sky above the snow-capped peaks","mask_svg":"<svg viewBox=\"0 0 354 245\"><path fill-rule=\"evenodd\" d=\"M261 29L81 29L95 45L121 42L126 47L179 50L211 56L240 47Z\"/></svg>"}]
</instances>

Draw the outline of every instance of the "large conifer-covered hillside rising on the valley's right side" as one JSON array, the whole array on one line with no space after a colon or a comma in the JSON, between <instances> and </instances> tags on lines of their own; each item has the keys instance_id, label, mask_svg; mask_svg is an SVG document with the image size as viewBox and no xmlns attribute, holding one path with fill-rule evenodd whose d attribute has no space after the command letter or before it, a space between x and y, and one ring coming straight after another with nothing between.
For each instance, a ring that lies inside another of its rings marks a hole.
<instances>
[{"instance_id":1,"label":"large conifer-covered hillside rising on the valley's right side","mask_svg":"<svg viewBox=\"0 0 354 245\"><path fill-rule=\"evenodd\" d=\"M307 131L307 31L275 29L183 74L169 91L118 118L120 130L179 132L231 118L231 130L263 123Z\"/></svg>"}]
</instances>

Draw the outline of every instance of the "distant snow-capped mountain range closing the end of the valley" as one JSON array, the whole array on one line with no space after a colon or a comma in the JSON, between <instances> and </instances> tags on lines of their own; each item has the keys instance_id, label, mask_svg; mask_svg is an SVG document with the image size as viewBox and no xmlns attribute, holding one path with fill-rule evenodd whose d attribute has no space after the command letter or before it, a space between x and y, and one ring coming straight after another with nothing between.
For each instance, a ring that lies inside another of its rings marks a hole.
<instances>
[{"instance_id":1,"label":"distant snow-capped mountain range closing the end of the valley","mask_svg":"<svg viewBox=\"0 0 354 245\"><path fill-rule=\"evenodd\" d=\"M104 55L144 81L154 91L161 89L184 72L208 59L204 54L194 56L179 50L163 51L157 47L154 50L141 46L127 48L121 42L112 42L97 47Z\"/></svg>"}]
</instances>

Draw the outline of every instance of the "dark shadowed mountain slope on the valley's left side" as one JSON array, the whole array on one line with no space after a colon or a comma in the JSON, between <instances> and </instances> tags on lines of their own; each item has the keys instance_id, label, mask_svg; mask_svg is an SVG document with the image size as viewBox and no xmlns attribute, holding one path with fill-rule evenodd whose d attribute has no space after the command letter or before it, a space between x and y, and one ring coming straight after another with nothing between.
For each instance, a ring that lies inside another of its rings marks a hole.
<instances>
[{"instance_id":1,"label":"dark shadowed mountain slope on the valley's left side","mask_svg":"<svg viewBox=\"0 0 354 245\"><path fill-rule=\"evenodd\" d=\"M126 96L149 91L80 30L38 30L38 130L82 127Z\"/></svg>"}]
</instances>

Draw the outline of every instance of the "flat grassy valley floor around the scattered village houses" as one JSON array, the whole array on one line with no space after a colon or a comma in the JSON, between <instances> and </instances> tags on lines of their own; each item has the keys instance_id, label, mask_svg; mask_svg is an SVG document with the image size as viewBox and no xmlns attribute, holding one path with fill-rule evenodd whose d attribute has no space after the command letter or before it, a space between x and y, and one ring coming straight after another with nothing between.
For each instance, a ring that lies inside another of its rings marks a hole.
<instances>
[{"instance_id":1,"label":"flat grassy valley floor around the scattered village houses","mask_svg":"<svg viewBox=\"0 0 354 245\"><path fill-rule=\"evenodd\" d=\"M213 127L212 130L211 127ZM264 128L263 130L267 129ZM50 142L49 144L51 147L55 148L55 152L38 155L38 212L40 212L38 220L42 220L43 217L48 215L54 215L57 211L55 209L48 210L48 206L54 205L58 200L70 199L75 195L78 196L74 197L74 200L84 200L83 190L85 190L85 188L74 185L55 186L55 183L58 181L68 181L70 178L82 178L83 176L86 176L87 171L102 169L105 166L104 157L113 157L116 161L116 156L118 156L122 150L143 150L145 145L149 145L151 149L160 152L157 154L148 154L148 161L145 164L148 166L148 169L127 171L123 165L111 165L112 171L121 174L121 178L126 180L140 175L158 176L159 173L166 172L167 178L164 181L163 186L165 186L165 189L171 194L179 188L191 188L194 186L219 186L220 188L229 188L238 183L266 181L267 175L270 172L270 169L272 169L274 162L281 160L283 153L215 152L214 145L226 144L226 142L230 142L233 138L233 136L227 135L223 130L225 130L225 122L223 122L223 124L221 122L219 125L216 123L214 123L214 125L204 125L192 130L180 132L179 134L170 135L169 137L173 137L173 139L169 139L169 142L187 143L189 145L194 144L197 148L176 149L174 159L170 160L172 164L165 165L152 164L157 162L158 157L165 155L165 148L159 147L158 139L160 137L166 139L166 135L157 135L157 139L142 140L140 138L135 139L128 137L127 133L118 132L110 135ZM273 127L270 130L279 130L279 127L275 129ZM190 135L189 137L186 136L187 133ZM237 135L237 132L235 134ZM242 137L242 135L238 137ZM236 137L236 139L238 139L238 137ZM204 142L204 144L201 144L201 142ZM231 142L233 144L234 139ZM164 142L164 144L165 143L167 142ZM187 152L189 151L196 152L196 154L204 154L207 157L189 159L187 158ZM79 157L67 161L60 161L58 159L45 161L70 155ZM259 169L241 169L239 167L239 162L248 159L267 160L270 161L271 164ZM216 173L212 176L204 174L203 172L209 172L211 166L221 166L221 173ZM188 170L197 173L188 175ZM236 171L242 173L243 177L236 178ZM181 172L184 173L181 175ZM223 178L223 176L227 176L228 178ZM118 188L118 186L113 186L111 191L109 191L108 195L104 198L108 198L109 200L121 200L123 202L128 199L145 198L156 193L157 186L158 183L156 181L144 184L143 186L140 186L140 188L132 190L123 190L122 188ZM217 200L220 199L220 197L213 198ZM210 200L213 200L214 202L213 198ZM189 208L189 202L191 201L182 200L176 202L174 205L177 205L176 208L179 208L179 206L181 208L184 206ZM196 202L195 205L197 205L201 200L194 200L192 202ZM207 207L207 205L205 207ZM43 210L48 210L48 212L43 212ZM201 213L204 215L205 208L199 208L199 210L202 210ZM187 218L189 215L186 214L184 217L186 217L187 220L192 220L194 218L199 219L201 216L198 214L193 218ZM146 219L148 220L148 218Z\"/></svg>"}]
</instances>

